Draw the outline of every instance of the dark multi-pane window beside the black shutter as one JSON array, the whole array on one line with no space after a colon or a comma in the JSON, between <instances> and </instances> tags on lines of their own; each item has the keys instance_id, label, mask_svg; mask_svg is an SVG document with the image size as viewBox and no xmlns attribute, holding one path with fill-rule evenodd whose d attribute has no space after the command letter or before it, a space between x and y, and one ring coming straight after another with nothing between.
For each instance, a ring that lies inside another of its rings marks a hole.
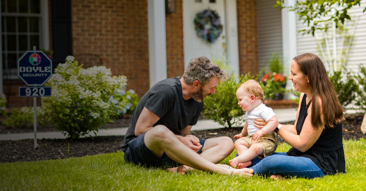
<instances>
[{"instance_id":1,"label":"dark multi-pane window beside the black shutter","mask_svg":"<svg viewBox=\"0 0 366 191\"><path fill-rule=\"evenodd\" d=\"M41 0L1 0L1 40L4 79L17 79L16 61L42 37Z\"/></svg>"}]
</instances>

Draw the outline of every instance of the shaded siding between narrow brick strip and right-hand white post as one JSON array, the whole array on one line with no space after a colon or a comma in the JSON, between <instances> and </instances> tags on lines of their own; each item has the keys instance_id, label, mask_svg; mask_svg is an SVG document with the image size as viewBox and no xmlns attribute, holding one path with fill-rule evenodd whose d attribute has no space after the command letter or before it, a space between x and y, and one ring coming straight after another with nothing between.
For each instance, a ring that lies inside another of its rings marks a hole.
<instances>
[{"instance_id":1,"label":"shaded siding between narrow brick strip and right-hand white post","mask_svg":"<svg viewBox=\"0 0 366 191\"><path fill-rule=\"evenodd\" d=\"M257 0L258 67L261 72L273 53L282 59L282 25L276 0Z\"/></svg>"}]
</instances>

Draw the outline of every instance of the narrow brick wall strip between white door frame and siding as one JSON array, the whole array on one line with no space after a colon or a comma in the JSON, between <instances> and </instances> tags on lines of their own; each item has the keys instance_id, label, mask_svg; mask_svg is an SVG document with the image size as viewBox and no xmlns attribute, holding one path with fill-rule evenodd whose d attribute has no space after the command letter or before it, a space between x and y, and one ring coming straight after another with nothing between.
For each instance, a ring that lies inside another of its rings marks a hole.
<instances>
[{"instance_id":1,"label":"narrow brick wall strip between white door frame and siding","mask_svg":"<svg viewBox=\"0 0 366 191\"><path fill-rule=\"evenodd\" d=\"M255 0L237 0L239 71L258 73L257 11Z\"/></svg>"}]
</instances>

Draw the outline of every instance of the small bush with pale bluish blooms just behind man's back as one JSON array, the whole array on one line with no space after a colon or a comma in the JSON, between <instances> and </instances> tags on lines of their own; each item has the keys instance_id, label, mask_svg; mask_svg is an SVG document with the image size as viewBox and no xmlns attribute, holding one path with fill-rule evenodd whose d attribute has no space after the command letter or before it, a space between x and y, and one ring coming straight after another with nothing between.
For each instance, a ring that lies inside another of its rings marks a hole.
<instances>
[{"instance_id":1,"label":"small bush with pale bluish blooms just behind man's back","mask_svg":"<svg viewBox=\"0 0 366 191\"><path fill-rule=\"evenodd\" d=\"M123 114L133 114L135 111L135 107L139 102L139 98L133 89L126 91L126 87L117 89L117 93L114 96L111 96L110 100L112 102L122 102L125 101L126 105L119 110L118 113Z\"/></svg>"}]
</instances>

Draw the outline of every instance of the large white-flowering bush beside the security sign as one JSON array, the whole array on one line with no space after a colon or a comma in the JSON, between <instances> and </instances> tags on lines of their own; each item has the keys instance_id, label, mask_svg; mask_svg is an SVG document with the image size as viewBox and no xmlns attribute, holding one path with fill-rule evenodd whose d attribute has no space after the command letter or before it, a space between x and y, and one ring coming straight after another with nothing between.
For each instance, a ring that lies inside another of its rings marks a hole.
<instances>
[{"instance_id":1,"label":"large white-flowering bush beside the security sign","mask_svg":"<svg viewBox=\"0 0 366 191\"><path fill-rule=\"evenodd\" d=\"M70 138L98 131L122 110L125 103L112 102L111 96L127 83L125 76L111 76L111 69L78 65L73 56L59 64L46 85L52 87L51 97L42 97L42 109L55 127Z\"/></svg>"}]
</instances>

